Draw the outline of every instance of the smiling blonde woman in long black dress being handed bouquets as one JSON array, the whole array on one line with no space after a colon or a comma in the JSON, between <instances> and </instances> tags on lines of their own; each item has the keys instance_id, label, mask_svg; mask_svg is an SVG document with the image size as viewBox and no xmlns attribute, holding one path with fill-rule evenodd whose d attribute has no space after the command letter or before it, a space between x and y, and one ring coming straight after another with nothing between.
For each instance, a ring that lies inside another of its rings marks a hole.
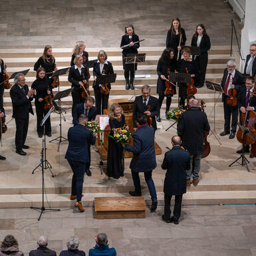
<instances>
[{"instance_id":1,"label":"smiling blonde woman in long black dress being handed bouquets","mask_svg":"<svg viewBox=\"0 0 256 256\"><path fill-rule=\"evenodd\" d=\"M110 135L113 136L112 128L124 126L124 112L118 103L112 104L108 112L109 124L111 128ZM128 126L126 127L128 129ZM124 176L124 148L121 143L116 143L108 137L108 162L106 164L106 175L118 179Z\"/></svg>"}]
</instances>

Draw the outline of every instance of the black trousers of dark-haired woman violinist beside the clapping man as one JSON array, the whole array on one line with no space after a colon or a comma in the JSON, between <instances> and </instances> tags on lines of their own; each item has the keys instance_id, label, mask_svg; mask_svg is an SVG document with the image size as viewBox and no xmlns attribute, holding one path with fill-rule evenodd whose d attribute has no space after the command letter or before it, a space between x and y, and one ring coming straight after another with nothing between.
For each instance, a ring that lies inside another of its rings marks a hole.
<instances>
[{"instance_id":1,"label":"black trousers of dark-haired woman violinist beside the clapping man","mask_svg":"<svg viewBox=\"0 0 256 256\"><path fill-rule=\"evenodd\" d=\"M35 102L35 111L37 112L37 133L43 134L44 133L44 126L40 126L41 121L43 120L44 116L49 112L48 110L44 110L44 103L36 101ZM45 121L45 134L51 134L51 117L47 118Z\"/></svg>"}]
</instances>

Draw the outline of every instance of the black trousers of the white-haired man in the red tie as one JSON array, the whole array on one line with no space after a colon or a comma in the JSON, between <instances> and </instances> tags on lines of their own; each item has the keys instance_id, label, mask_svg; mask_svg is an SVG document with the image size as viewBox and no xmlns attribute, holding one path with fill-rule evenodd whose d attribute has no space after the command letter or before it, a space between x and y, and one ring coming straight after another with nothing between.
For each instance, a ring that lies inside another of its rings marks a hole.
<instances>
[{"instance_id":1,"label":"black trousers of the white-haired man in the red tie","mask_svg":"<svg viewBox=\"0 0 256 256\"><path fill-rule=\"evenodd\" d=\"M237 131L237 118L238 118L238 107L227 104L227 95L223 95L223 106L224 106L224 131L230 132L230 118L231 118L231 132Z\"/></svg>"}]
</instances>

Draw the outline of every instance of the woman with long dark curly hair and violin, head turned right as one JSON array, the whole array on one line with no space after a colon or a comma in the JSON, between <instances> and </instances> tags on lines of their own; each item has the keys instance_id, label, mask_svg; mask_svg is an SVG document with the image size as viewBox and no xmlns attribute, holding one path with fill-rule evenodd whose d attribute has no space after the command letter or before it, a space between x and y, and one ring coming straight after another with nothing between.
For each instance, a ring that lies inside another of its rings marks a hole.
<instances>
[{"instance_id":1,"label":"woman with long dark curly hair and violin, head turned right","mask_svg":"<svg viewBox=\"0 0 256 256\"><path fill-rule=\"evenodd\" d=\"M162 56L158 61L158 84L157 84L157 92L158 92L158 104L159 109L161 110L162 102L164 100L164 96L166 96L166 119L169 119L167 112L170 110L170 106L172 103L172 93L166 92L166 79L169 79L169 72L174 72L176 70L177 61L174 59L174 50L170 48L166 48ZM168 81L167 81L168 82ZM170 88L174 93L176 93L176 86L170 84ZM158 116L156 116L156 120L161 122L160 112Z\"/></svg>"}]
</instances>

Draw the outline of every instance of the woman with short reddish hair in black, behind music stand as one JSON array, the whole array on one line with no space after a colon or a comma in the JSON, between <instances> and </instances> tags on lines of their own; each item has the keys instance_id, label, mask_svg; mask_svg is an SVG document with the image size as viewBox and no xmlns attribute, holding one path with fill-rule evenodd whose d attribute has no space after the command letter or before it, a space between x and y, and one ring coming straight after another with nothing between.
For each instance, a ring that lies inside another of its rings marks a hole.
<instances>
[{"instance_id":1,"label":"woman with short reddish hair in black, behind music stand","mask_svg":"<svg viewBox=\"0 0 256 256\"><path fill-rule=\"evenodd\" d=\"M180 73L186 73L187 72L186 68L187 68L188 73L191 74L191 78L194 81L197 80L199 75L199 70L198 70L197 63L190 58L190 55L191 55L190 48L186 47L182 49L182 55L184 59L179 61L177 65L177 71ZM178 86L179 86L179 98L180 98L179 105L185 108L185 99L188 96L187 94L188 86L186 85L186 83L182 83L182 82L180 82Z\"/></svg>"}]
</instances>

